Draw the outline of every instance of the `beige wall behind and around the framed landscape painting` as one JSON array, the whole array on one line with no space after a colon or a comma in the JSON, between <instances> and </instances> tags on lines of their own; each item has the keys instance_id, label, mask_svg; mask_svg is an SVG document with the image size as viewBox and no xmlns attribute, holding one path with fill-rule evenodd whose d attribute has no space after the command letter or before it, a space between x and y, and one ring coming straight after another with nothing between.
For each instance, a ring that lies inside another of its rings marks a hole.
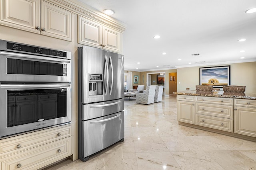
<instances>
[{"instance_id":1,"label":"beige wall behind and around the framed landscape painting","mask_svg":"<svg viewBox=\"0 0 256 170\"><path fill-rule=\"evenodd\" d=\"M214 66L230 65L230 85L246 86L245 93L256 93L256 62L221 64ZM195 90L199 85L199 68L208 66L196 66L177 68L177 91L186 88Z\"/></svg>"}]
</instances>

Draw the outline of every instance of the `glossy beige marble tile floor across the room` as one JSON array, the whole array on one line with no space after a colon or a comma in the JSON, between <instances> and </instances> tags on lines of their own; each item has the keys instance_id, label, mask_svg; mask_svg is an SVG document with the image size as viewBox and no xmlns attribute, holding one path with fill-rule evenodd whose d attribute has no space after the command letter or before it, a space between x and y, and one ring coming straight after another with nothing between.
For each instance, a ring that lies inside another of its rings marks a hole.
<instances>
[{"instance_id":1,"label":"glossy beige marble tile floor across the room","mask_svg":"<svg viewBox=\"0 0 256 170\"><path fill-rule=\"evenodd\" d=\"M256 143L178 125L176 96L125 106L124 142L47 170L256 170ZM45 169L45 170L46 170Z\"/></svg>"}]
</instances>

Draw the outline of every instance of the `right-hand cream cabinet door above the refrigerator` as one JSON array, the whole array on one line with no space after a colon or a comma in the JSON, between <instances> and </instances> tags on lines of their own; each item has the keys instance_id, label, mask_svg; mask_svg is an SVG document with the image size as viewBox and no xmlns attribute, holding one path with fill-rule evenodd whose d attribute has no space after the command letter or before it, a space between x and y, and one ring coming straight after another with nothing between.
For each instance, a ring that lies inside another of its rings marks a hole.
<instances>
[{"instance_id":1,"label":"right-hand cream cabinet door above the refrigerator","mask_svg":"<svg viewBox=\"0 0 256 170\"><path fill-rule=\"evenodd\" d=\"M114 29L103 27L102 35L103 48L105 50L120 53L120 39L121 33Z\"/></svg>"}]
</instances>

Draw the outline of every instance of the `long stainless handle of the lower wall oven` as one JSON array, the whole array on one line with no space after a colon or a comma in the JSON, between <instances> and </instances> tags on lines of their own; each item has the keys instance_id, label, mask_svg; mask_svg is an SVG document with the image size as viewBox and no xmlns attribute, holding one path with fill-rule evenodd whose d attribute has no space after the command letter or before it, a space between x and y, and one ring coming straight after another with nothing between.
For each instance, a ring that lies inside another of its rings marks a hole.
<instances>
[{"instance_id":1,"label":"long stainless handle of the lower wall oven","mask_svg":"<svg viewBox=\"0 0 256 170\"><path fill-rule=\"evenodd\" d=\"M1 84L0 88L51 88L70 87L70 84Z\"/></svg>"}]
</instances>

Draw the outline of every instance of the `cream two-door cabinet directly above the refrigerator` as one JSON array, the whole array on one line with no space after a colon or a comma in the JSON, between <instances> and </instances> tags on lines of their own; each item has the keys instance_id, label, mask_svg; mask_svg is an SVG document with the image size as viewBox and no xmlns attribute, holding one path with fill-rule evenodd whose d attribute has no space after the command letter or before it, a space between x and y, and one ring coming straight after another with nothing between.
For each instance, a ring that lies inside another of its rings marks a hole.
<instances>
[{"instance_id":1,"label":"cream two-door cabinet directly above the refrigerator","mask_svg":"<svg viewBox=\"0 0 256 170\"><path fill-rule=\"evenodd\" d=\"M121 53L122 33L78 16L78 43Z\"/></svg>"}]
</instances>

